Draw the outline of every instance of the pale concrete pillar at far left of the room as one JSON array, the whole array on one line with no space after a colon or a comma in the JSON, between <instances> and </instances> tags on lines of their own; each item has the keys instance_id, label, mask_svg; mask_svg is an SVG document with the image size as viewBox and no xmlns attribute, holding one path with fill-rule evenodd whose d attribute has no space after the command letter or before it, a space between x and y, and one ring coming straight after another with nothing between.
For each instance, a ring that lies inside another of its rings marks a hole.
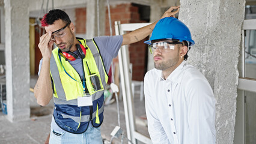
<instances>
[{"instance_id":1,"label":"pale concrete pillar at far left of the room","mask_svg":"<svg viewBox=\"0 0 256 144\"><path fill-rule=\"evenodd\" d=\"M28 1L4 0L7 118L29 118L29 10Z\"/></svg>"}]
</instances>

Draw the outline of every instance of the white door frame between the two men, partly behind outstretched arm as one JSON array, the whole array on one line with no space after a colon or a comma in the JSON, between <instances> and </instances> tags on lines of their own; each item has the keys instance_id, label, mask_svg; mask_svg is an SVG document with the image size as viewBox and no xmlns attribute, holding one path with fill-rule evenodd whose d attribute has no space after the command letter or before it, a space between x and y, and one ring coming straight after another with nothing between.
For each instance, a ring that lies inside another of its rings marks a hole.
<instances>
[{"instance_id":1,"label":"white door frame between the two men, partly behind outstretched arm","mask_svg":"<svg viewBox=\"0 0 256 144\"><path fill-rule=\"evenodd\" d=\"M149 25L150 23L126 23L120 24L120 21L115 21L115 35L123 35L126 31L134 31L135 29ZM118 61L120 67L121 89L124 102L124 114L126 118L127 137L133 143L139 140L144 143L152 143L150 138L136 131L135 112L133 106L133 96L131 89L131 79L129 74L129 50L127 46L122 46L118 52Z\"/></svg>"}]
</instances>

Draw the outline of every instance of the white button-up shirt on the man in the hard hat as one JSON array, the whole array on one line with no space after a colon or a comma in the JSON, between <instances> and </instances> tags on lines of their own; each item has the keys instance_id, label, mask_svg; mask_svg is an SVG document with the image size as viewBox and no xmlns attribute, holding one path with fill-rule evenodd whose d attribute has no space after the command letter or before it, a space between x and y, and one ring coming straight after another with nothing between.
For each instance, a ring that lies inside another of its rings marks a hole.
<instances>
[{"instance_id":1,"label":"white button-up shirt on the man in the hard hat","mask_svg":"<svg viewBox=\"0 0 256 144\"><path fill-rule=\"evenodd\" d=\"M144 80L148 131L153 143L212 144L215 96L207 79L182 62L166 80L150 70Z\"/></svg>"}]
</instances>

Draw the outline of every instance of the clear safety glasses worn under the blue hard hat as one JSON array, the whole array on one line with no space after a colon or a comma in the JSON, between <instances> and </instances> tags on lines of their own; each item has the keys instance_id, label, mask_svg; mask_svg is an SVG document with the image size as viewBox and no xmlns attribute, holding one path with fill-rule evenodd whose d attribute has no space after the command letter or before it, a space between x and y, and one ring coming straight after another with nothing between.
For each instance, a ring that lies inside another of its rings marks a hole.
<instances>
[{"instance_id":1,"label":"clear safety glasses worn under the blue hard hat","mask_svg":"<svg viewBox=\"0 0 256 144\"><path fill-rule=\"evenodd\" d=\"M159 49L160 52L169 52L170 50L174 50L175 44L182 44L181 42L170 42L170 41L161 41L152 44L148 44L148 48L150 52L153 53L156 49Z\"/></svg>"}]
</instances>

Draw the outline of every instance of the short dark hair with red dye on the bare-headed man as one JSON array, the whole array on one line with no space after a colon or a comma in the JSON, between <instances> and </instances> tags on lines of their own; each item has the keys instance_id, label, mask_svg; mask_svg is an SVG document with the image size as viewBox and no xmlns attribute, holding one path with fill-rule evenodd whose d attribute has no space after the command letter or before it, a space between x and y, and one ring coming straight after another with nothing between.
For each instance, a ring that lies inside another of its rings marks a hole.
<instances>
[{"instance_id":1,"label":"short dark hair with red dye on the bare-headed man","mask_svg":"<svg viewBox=\"0 0 256 144\"><path fill-rule=\"evenodd\" d=\"M62 10L55 9L55 10L50 10L49 13L44 14L43 19L41 20L41 25L42 26L48 26L52 25L56 20L61 19L63 22L71 23L71 20L69 19L69 16L67 13L65 13Z\"/></svg>"}]
</instances>

